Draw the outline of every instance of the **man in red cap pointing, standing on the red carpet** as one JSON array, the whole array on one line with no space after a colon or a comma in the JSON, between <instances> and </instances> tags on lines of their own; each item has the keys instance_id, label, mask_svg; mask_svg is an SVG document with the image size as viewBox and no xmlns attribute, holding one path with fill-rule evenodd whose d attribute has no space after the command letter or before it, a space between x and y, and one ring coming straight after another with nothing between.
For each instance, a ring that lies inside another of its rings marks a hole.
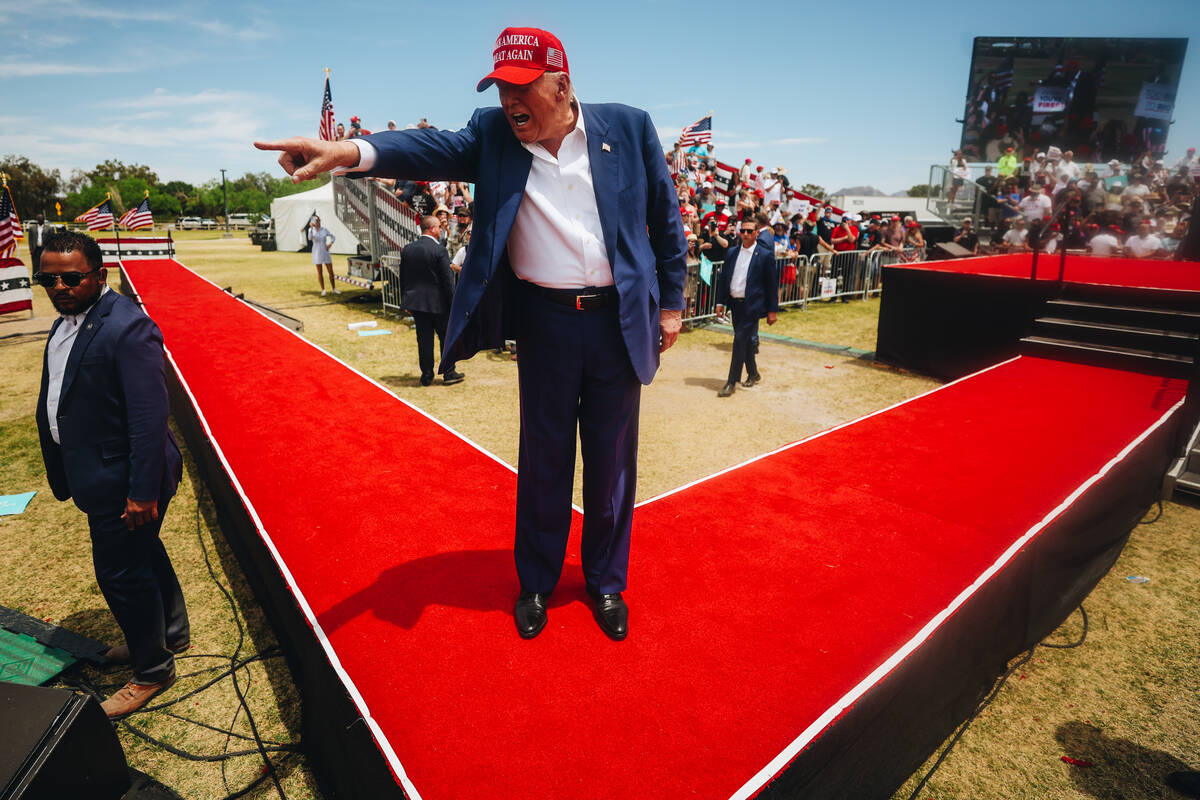
<instances>
[{"instance_id":1,"label":"man in red cap pointing, standing on the red carpet","mask_svg":"<svg viewBox=\"0 0 1200 800\"><path fill-rule=\"evenodd\" d=\"M688 243L646 112L575 97L562 42L506 28L476 86L499 108L466 127L383 131L349 142L258 142L294 181L354 176L475 181L474 234L455 291L446 363L515 338L521 385L518 633L546 625L571 522L575 437L583 451L583 573L596 621L623 639L641 385L674 343Z\"/></svg>"}]
</instances>

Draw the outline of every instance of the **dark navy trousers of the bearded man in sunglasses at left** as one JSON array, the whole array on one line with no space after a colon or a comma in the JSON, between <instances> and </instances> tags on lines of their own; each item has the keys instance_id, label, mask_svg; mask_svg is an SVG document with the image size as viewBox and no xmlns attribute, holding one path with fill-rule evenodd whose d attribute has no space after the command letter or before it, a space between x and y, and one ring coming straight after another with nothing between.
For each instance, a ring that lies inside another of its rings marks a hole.
<instances>
[{"instance_id":1,"label":"dark navy trousers of the bearded man in sunglasses at left","mask_svg":"<svg viewBox=\"0 0 1200 800\"><path fill-rule=\"evenodd\" d=\"M158 519L130 530L120 511L88 515L96 582L130 645L133 680L157 684L175 668L167 644L191 640L187 608L167 549L158 539L168 498Z\"/></svg>"}]
</instances>

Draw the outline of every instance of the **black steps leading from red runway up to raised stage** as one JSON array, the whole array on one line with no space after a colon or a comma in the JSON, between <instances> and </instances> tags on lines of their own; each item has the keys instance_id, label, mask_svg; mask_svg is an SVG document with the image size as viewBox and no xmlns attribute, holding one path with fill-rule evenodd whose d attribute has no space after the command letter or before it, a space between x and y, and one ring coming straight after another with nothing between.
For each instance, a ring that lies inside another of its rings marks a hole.
<instances>
[{"instance_id":1,"label":"black steps leading from red runway up to raised stage","mask_svg":"<svg viewBox=\"0 0 1200 800\"><path fill-rule=\"evenodd\" d=\"M1180 293L1064 287L1044 302L1020 351L1192 378L1200 356L1200 308Z\"/></svg>"}]
</instances>

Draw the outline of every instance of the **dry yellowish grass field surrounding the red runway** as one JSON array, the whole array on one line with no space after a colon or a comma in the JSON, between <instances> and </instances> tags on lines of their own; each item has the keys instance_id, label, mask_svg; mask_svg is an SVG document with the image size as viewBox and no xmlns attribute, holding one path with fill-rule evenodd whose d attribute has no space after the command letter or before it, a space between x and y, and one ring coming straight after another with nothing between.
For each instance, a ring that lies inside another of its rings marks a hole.
<instances>
[{"instance_id":1,"label":"dry yellowish grass field surrounding the red runway","mask_svg":"<svg viewBox=\"0 0 1200 800\"><path fill-rule=\"evenodd\" d=\"M396 335L364 338L347 331L347 323L377 317L378 303L356 290L320 297L307 254L260 253L244 235L226 240L211 231L181 234L179 249L180 259L192 269L301 319L302 335L311 341L500 458L516 461L516 365L506 355L481 354L464 362L467 380L457 386L420 387L412 332L385 318L380 325ZM115 277L109 282L115 285ZM71 504L56 503L46 487L34 405L54 312L41 289L36 303L37 318L31 321L0 318L5 320L0 321L5 365L0 494L38 491L24 515L0 517L0 536L7 545L0 563L0 603L116 642L119 632L91 573L86 521ZM782 314L769 330L872 350L877 313L877 301L815 303L808 312ZM760 356L764 383L718 399L728 353L727 335L696 330L666 354L658 380L643 393L640 499L936 385L857 359L764 341ZM253 751L251 741L224 733L232 729L251 736L229 678L196 694L188 692L228 670L232 660L254 654L266 657L241 666L238 680L263 739L284 746L298 742L299 698L283 661L272 656L274 636L216 527L186 452L185 463L163 540L188 601L193 648L179 662L176 688L163 698L179 702L136 715L119 734L131 764L185 798L206 800L260 780L262 758L252 752L226 762L188 760L130 728L196 754ZM788 480L803 487L803 477ZM1168 504L1160 518L1134 531L1117 566L1085 602L1086 642L1074 649L1037 649L918 796L1175 796L1162 786L1162 775L1184 763L1200 766L1198 564L1200 511ZM1126 579L1129 575L1150 582L1132 583ZM218 583L229 589L232 606ZM1076 639L1080 619L1079 614L1069 619L1051 640ZM239 622L245 630L242 642ZM104 693L125 676L120 669L83 672ZM1086 759L1093 766L1068 765L1062 756ZM320 796L301 754L276 752L272 758L281 763L278 774L288 798ZM895 796L907 798L917 780ZM277 792L263 781L247 796L277 796Z\"/></svg>"}]
</instances>

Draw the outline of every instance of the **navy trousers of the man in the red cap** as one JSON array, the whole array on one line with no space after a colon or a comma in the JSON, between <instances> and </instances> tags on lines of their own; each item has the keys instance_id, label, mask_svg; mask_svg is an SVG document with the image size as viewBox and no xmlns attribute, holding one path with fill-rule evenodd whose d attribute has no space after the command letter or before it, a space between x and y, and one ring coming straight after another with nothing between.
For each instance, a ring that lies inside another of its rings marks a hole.
<instances>
[{"instance_id":1,"label":"navy trousers of the man in the red cap","mask_svg":"<svg viewBox=\"0 0 1200 800\"><path fill-rule=\"evenodd\" d=\"M618 307L576 311L518 282L521 453L516 566L521 588L550 594L566 555L575 437L583 455L583 577L593 594L625 590L637 483L642 385Z\"/></svg>"}]
</instances>

